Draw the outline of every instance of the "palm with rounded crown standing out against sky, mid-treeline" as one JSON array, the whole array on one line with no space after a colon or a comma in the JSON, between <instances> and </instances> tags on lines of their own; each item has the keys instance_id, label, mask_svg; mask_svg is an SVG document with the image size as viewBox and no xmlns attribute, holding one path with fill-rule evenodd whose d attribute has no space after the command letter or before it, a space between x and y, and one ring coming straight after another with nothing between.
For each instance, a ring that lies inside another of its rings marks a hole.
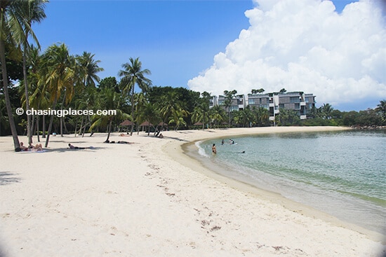
<instances>
[{"instance_id":1,"label":"palm with rounded crown standing out against sky, mid-treeline","mask_svg":"<svg viewBox=\"0 0 386 257\"><path fill-rule=\"evenodd\" d=\"M149 78L146 78L146 75L151 75L152 73L148 69L142 69L142 62L139 58L129 59L130 63L126 62L122 64L124 70L119 71L119 76L123 77L121 83L124 91L131 92L131 118L135 118L134 115L134 88L135 84L138 85L140 90L146 92L149 86L152 85L152 81ZM133 135L133 125L131 125L131 135Z\"/></svg>"}]
</instances>

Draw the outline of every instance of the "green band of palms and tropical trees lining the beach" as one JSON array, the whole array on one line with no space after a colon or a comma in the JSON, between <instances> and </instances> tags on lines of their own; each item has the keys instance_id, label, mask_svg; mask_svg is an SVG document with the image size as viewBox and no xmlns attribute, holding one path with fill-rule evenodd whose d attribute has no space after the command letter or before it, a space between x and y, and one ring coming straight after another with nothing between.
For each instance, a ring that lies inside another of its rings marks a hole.
<instances>
[{"instance_id":1,"label":"green band of palms and tropical trees lining the beach","mask_svg":"<svg viewBox=\"0 0 386 257\"><path fill-rule=\"evenodd\" d=\"M256 127L270 125L386 125L386 101L377 108L365 111L343 112L331 104L314 107L307 120L300 120L298 113L280 109L274 123L269 120L269 110L247 106L232 109L232 99L237 90L225 90L225 101L211 105L208 92L194 92L187 88L153 86L151 71L142 67L139 58L129 58L122 64L117 81L115 77L100 78L100 60L93 53L70 53L65 43L53 44L41 51L32 25L41 22L46 15L46 0L0 1L0 135L11 134L18 149L18 134L25 134L32 142L50 135L73 133L84 137L86 132L144 130L217 129L219 127ZM30 39L36 45L30 44ZM252 90L261 94L264 89ZM285 93L283 88L280 92ZM93 114L68 115L15 115L17 108L41 110L74 109L93 110ZM114 115L97 115L97 110L115 110Z\"/></svg>"}]
</instances>

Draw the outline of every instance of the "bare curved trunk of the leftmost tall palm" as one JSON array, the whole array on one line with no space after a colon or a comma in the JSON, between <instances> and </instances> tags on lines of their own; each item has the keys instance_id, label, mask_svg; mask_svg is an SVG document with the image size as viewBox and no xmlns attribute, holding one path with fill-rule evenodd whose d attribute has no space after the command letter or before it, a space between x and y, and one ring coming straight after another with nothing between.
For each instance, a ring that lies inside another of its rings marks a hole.
<instances>
[{"instance_id":1,"label":"bare curved trunk of the leftmost tall palm","mask_svg":"<svg viewBox=\"0 0 386 257\"><path fill-rule=\"evenodd\" d=\"M7 69L6 69L6 53L5 53L5 49L4 49L4 41L2 39L0 39L0 60L1 60L1 74L3 76L3 89L4 89L4 97L6 99L8 121L9 121L9 126L11 127L11 133L12 133L12 137L13 137L13 146L15 147L15 150L16 150L16 149L20 148L20 142L19 142L19 138L18 138L18 131L16 130L16 126L15 126L15 120L13 119L11 99L9 98L9 93L8 93L8 75L7 75Z\"/></svg>"}]
</instances>

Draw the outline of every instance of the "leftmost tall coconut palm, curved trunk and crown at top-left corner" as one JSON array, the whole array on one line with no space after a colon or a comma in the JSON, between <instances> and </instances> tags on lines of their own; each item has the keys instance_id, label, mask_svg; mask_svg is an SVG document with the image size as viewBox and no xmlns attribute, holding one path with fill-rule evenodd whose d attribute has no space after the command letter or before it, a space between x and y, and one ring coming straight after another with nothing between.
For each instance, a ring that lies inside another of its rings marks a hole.
<instances>
[{"instance_id":1,"label":"leftmost tall coconut palm, curved trunk and crown at top-left corner","mask_svg":"<svg viewBox=\"0 0 386 257\"><path fill-rule=\"evenodd\" d=\"M23 35L22 25L20 20L19 6L21 1L1 0L0 1L0 62L1 75L3 80L4 97L6 102L6 109L8 115L9 126L13 137L13 146L15 150L20 149L20 142L18 139L18 132L16 131L15 120L13 119L11 99L8 93L8 74L6 69L6 44L15 47L18 39Z\"/></svg>"}]
</instances>

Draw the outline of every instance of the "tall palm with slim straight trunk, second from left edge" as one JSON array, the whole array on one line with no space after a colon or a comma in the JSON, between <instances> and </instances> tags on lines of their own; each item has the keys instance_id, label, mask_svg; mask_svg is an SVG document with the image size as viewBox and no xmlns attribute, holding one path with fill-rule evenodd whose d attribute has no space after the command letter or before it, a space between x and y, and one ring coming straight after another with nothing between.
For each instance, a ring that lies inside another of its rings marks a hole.
<instances>
[{"instance_id":1,"label":"tall palm with slim straight trunk, second from left edge","mask_svg":"<svg viewBox=\"0 0 386 257\"><path fill-rule=\"evenodd\" d=\"M22 54L22 63L23 63L23 78L24 78L24 88L25 88L25 108L30 110L29 108L29 92L28 92L28 81L27 81L27 54L29 52L29 43L28 36L32 36L34 41L36 42L38 48L39 41L37 41L34 32L31 29L33 22L41 22L44 18L46 18L46 13L44 13L44 7L46 5L46 0L26 0L20 1L20 14L22 17L19 17L20 25L22 25L23 35L19 37L18 43L22 46L23 54ZM27 114L27 137L28 142L32 143L32 120L31 115Z\"/></svg>"}]
</instances>

